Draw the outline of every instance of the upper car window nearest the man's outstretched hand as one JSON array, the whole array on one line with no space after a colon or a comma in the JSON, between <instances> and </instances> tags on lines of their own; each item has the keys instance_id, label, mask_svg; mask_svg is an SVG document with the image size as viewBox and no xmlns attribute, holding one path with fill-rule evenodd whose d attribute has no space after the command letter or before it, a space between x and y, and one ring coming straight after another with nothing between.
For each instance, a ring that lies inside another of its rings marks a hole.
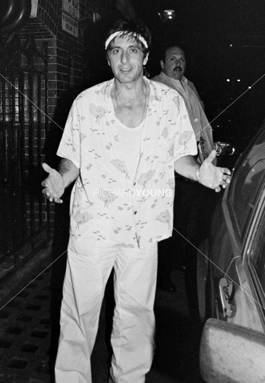
<instances>
[{"instance_id":1,"label":"upper car window nearest the man's outstretched hand","mask_svg":"<svg viewBox=\"0 0 265 383\"><path fill-rule=\"evenodd\" d=\"M228 208L241 244L250 217L265 184L265 129L235 169L228 193Z\"/></svg>"}]
</instances>

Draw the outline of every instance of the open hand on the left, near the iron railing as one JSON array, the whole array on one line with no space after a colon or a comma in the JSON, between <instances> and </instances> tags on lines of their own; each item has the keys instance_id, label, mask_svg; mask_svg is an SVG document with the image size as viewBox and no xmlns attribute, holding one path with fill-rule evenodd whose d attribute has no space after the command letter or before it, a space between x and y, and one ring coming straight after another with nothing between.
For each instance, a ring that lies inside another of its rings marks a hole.
<instances>
[{"instance_id":1,"label":"open hand on the left, near the iron railing","mask_svg":"<svg viewBox=\"0 0 265 383\"><path fill-rule=\"evenodd\" d=\"M49 174L41 183L41 186L44 188L42 194L46 195L50 202L54 200L56 203L62 203L62 199L60 199L64 193L62 176L45 163L42 164L42 168Z\"/></svg>"}]
</instances>

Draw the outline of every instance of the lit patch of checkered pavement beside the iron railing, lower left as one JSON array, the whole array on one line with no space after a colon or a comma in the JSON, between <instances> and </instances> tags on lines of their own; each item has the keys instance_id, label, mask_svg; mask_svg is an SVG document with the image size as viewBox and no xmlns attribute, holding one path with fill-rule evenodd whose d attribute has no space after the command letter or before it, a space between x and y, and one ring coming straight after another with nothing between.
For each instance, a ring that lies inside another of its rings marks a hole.
<instances>
[{"instance_id":1,"label":"lit patch of checkered pavement beside the iron railing, lower left","mask_svg":"<svg viewBox=\"0 0 265 383\"><path fill-rule=\"evenodd\" d=\"M1 383L50 383L49 282L47 270L0 310Z\"/></svg>"}]
</instances>

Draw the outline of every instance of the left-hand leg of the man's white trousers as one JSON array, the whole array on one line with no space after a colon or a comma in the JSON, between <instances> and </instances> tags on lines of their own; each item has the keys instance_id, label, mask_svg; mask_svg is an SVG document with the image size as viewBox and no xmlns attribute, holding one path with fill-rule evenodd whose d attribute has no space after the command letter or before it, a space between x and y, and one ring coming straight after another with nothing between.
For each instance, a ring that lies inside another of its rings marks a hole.
<instances>
[{"instance_id":1,"label":"left-hand leg of the man's white trousers","mask_svg":"<svg viewBox=\"0 0 265 383\"><path fill-rule=\"evenodd\" d=\"M90 356L115 253L94 249L80 255L68 251L55 364L56 383L92 382Z\"/></svg>"}]
</instances>

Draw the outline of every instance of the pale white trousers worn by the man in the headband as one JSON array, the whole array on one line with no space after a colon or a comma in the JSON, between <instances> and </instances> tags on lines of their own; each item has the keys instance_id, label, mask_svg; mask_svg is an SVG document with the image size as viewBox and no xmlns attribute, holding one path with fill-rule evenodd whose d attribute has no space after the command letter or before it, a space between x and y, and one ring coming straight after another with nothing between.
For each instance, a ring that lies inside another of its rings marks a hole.
<instances>
[{"instance_id":1,"label":"pale white trousers worn by the man in the headband","mask_svg":"<svg viewBox=\"0 0 265 383\"><path fill-rule=\"evenodd\" d=\"M92 383L90 356L112 267L115 310L110 374L115 383L145 382L154 354L157 244L142 250L101 246L86 255L68 250L56 383Z\"/></svg>"}]
</instances>

